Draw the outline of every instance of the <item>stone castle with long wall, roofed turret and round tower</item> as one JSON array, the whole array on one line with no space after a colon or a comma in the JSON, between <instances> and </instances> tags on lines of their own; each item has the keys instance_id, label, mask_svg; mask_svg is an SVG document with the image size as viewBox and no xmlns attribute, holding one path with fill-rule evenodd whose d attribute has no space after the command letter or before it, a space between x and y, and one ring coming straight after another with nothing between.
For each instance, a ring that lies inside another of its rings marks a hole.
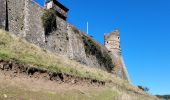
<instances>
[{"instance_id":1,"label":"stone castle with long wall, roofed turret and round tower","mask_svg":"<svg viewBox=\"0 0 170 100\"><path fill-rule=\"evenodd\" d=\"M41 17L47 9L56 11L57 30L45 34ZM107 70L94 55L85 52L82 36L90 38L67 23L69 9L56 0L47 0L45 8L32 0L0 0L0 29L9 31L41 48L64 55L72 60ZM121 55L120 34L116 30L105 35L105 47L114 64L113 73L130 82Z\"/></svg>"}]
</instances>

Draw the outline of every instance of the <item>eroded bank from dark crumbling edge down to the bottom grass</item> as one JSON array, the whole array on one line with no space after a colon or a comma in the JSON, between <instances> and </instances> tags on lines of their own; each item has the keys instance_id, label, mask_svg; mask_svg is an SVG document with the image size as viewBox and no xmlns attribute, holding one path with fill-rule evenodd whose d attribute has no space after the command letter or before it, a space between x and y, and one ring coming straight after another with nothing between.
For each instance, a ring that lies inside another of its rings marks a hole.
<instances>
[{"instance_id":1,"label":"eroded bank from dark crumbling edge down to the bottom grass","mask_svg":"<svg viewBox=\"0 0 170 100\"><path fill-rule=\"evenodd\" d=\"M16 61L0 60L0 75L0 80L4 80L0 82L0 98L9 96L9 100L25 100L27 96L32 100L157 100L113 82L52 72Z\"/></svg>"}]
</instances>

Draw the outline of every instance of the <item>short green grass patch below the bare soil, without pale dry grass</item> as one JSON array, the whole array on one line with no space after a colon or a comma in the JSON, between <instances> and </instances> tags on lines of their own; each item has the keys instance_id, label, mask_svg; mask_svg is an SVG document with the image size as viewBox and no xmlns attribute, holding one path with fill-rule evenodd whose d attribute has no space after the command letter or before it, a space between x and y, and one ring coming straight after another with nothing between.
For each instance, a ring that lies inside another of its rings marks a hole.
<instances>
[{"instance_id":1,"label":"short green grass patch below the bare soil, without pale dry grass","mask_svg":"<svg viewBox=\"0 0 170 100\"><path fill-rule=\"evenodd\" d=\"M114 100L117 93L111 89L64 92L31 91L19 87L0 87L0 99L4 100ZM4 95L7 96L5 99Z\"/></svg>"}]
</instances>

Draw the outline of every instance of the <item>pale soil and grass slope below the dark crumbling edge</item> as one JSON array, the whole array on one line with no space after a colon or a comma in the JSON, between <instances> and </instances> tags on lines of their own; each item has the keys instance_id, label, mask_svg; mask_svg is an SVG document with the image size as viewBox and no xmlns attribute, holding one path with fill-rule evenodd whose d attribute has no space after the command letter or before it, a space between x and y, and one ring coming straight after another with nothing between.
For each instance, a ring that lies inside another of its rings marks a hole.
<instances>
[{"instance_id":1,"label":"pale soil and grass slope below the dark crumbling edge","mask_svg":"<svg viewBox=\"0 0 170 100\"><path fill-rule=\"evenodd\" d=\"M129 93L115 87L58 84L43 79L9 77L0 72L2 100L157 100L149 95Z\"/></svg>"}]
</instances>

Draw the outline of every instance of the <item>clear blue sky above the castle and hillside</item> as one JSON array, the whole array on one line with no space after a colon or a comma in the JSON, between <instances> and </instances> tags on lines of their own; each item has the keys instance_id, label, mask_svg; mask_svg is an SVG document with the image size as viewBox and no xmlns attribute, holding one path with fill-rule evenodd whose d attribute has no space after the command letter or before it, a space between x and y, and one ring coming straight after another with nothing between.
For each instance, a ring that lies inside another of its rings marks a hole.
<instances>
[{"instance_id":1,"label":"clear blue sky above the castle and hillside","mask_svg":"<svg viewBox=\"0 0 170 100\"><path fill-rule=\"evenodd\" d=\"M41 5L44 0L35 0ZM68 22L103 44L119 28L123 57L133 85L170 94L170 0L59 0Z\"/></svg>"}]
</instances>

